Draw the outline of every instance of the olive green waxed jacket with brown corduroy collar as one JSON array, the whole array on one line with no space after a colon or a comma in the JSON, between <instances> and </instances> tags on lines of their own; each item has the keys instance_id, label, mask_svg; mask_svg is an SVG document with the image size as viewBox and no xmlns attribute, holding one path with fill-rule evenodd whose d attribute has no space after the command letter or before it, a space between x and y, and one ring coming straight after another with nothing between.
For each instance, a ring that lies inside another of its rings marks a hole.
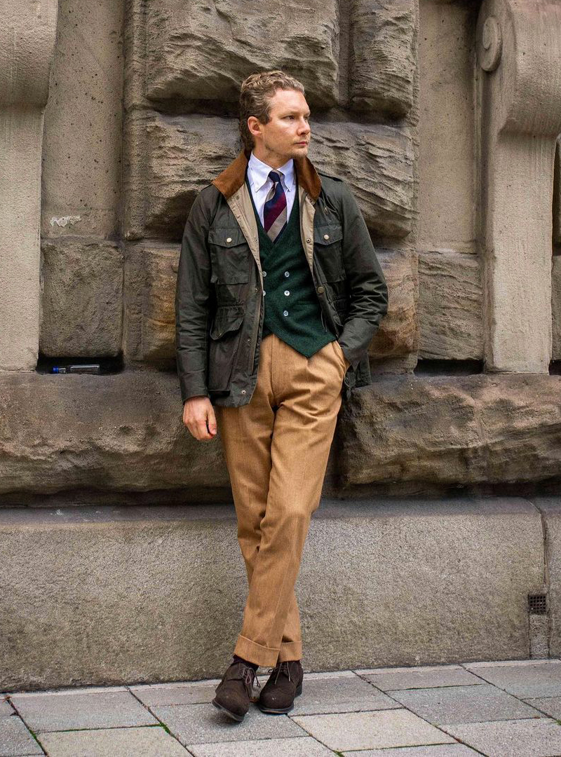
<instances>
[{"instance_id":1,"label":"olive green waxed jacket with brown corduroy collar","mask_svg":"<svg viewBox=\"0 0 561 757\"><path fill-rule=\"evenodd\" d=\"M182 402L204 395L239 407L251 400L263 330L257 220L245 170L248 151L201 189L185 223L176 284L176 355ZM370 383L367 349L388 311L388 287L348 186L294 160L300 230L329 329L351 365L344 398Z\"/></svg>"}]
</instances>

